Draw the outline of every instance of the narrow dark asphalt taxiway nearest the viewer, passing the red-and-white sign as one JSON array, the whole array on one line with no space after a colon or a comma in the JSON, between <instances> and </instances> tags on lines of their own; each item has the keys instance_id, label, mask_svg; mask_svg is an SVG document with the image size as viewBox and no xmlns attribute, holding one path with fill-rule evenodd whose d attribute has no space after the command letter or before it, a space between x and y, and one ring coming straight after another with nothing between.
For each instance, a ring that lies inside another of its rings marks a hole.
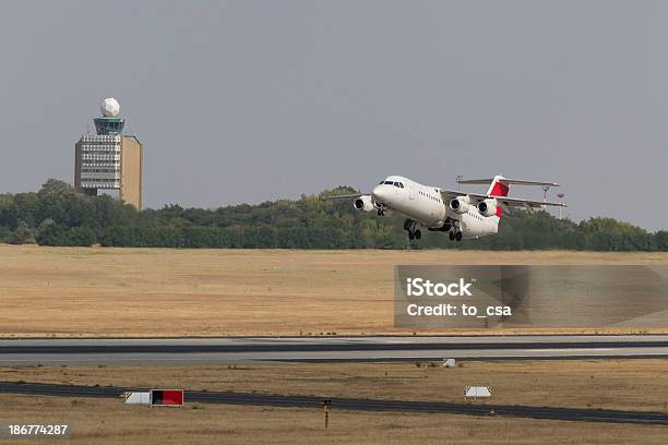
<instances>
[{"instance_id":1,"label":"narrow dark asphalt taxiway nearest the viewer, passing the red-and-white sign","mask_svg":"<svg viewBox=\"0 0 668 445\"><path fill-rule=\"evenodd\" d=\"M119 398L127 390L146 390L112 386L83 386L38 383L0 382L0 394L44 395L61 397L105 397ZM260 393L199 392L187 390L184 400L190 402L247 405L261 407L311 408L315 409L323 397L283 396ZM668 414L664 412L622 411L610 409L581 409L532 407L493 404L453 404L415 400L380 400L327 397L332 409L361 411L430 412L467 416L504 416L529 419L571 420L607 423L640 423L668 425Z\"/></svg>"}]
</instances>

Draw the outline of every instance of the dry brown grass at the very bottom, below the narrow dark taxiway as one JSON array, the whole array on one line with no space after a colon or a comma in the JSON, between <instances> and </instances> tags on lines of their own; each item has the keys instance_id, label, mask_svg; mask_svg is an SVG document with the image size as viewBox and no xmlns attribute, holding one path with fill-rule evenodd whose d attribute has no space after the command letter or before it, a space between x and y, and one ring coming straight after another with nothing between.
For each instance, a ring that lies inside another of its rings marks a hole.
<instances>
[{"instance_id":1,"label":"dry brown grass at the very bottom, below the narrow dark taxiway","mask_svg":"<svg viewBox=\"0 0 668 445\"><path fill-rule=\"evenodd\" d=\"M666 443L665 426L561 422L333 409L330 428L314 409L187 405L124 406L120 399L0 395L0 423L67 423L68 444L520 444ZM44 444L49 440L3 441Z\"/></svg>"}]
</instances>

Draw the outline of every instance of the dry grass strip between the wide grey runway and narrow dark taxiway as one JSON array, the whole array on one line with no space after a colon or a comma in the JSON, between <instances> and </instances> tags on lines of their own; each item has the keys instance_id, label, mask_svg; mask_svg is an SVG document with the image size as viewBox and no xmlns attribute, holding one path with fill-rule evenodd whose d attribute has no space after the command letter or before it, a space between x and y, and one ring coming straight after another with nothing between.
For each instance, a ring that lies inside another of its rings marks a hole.
<instances>
[{"instance_id":1,"label":"dry grass strip between the wide grey runway and narrow dark taxiway","mask_svg":"<svg viewBox=\"0 0 668 445\"><path fill-rule=\"evenodd\" d=\"M668 360L424 363L244 363L172 366L4 366L0 381L177 387L322 398L462 402L490 386L492 404L668 412ZM1 422L0 422L1 423Z\"/></svg>"}]
</instances>

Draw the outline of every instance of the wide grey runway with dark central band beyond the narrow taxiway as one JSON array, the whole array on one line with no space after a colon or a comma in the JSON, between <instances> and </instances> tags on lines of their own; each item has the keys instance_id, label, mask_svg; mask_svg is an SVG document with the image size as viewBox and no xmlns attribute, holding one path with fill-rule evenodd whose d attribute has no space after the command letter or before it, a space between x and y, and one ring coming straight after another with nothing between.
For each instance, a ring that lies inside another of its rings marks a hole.
<instances>
[{"instance_id":1,"label":"wide grey runway with dark central band beyond the narrow taxiway","mask_svg":"<svg viewBox=\"0 0 668 445\"><path fill-rule=\"evenodd\" d=\"M668 358L668 335L0 340L0 365Z\"/></svg>"}]
</instances>

